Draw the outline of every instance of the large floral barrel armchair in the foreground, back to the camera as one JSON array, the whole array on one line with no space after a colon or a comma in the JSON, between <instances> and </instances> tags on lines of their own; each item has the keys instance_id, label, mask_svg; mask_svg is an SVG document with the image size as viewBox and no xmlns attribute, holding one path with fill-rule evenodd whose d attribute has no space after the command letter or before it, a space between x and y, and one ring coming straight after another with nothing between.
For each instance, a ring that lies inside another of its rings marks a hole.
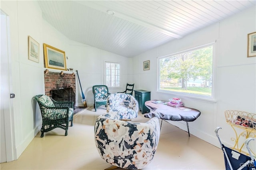
<instances>
[{"instance_id":1,"label":"large floral barrel armchair in the foreground, back to the camera","mask_svg":"<svg viewBox=\"0 0 256 170\"><path fill-rule=\"evenodd\" d=\"M159 120L146 123L121 121L117 112L100 115L95 122L97 150L106 162L124 169L136 170L153 159L160 136Z\"/></svg>"}]
</instances>

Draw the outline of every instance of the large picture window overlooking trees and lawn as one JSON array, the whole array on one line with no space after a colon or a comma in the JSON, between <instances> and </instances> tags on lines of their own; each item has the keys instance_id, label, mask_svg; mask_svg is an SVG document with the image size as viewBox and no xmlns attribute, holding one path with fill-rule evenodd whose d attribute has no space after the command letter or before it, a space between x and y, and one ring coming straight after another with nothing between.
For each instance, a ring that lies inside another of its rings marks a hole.
<instances>
[{"instance_id":1,"label":"large picture window overlooking trees and lawn","mask_svg":"<svg viewBox=\"0 0 256 170\"><path fill-rule=\"evenodd\" d=\"M158 91L213 98L214 43L158 58Z\"/></svg>"}]
</instances>

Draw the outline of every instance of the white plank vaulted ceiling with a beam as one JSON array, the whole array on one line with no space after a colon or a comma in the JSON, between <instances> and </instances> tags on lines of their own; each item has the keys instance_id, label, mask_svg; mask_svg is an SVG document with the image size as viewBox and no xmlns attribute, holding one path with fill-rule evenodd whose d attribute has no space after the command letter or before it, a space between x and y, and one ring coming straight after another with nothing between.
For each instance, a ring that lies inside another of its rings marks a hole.
<instances>
[{"instance_id":1,"label":"white plank vaulted ceiling with a beam","mask_svg":"<svg viewBox=\"0 0 256 170\"><path fill-rule=\"evenodd\" d=\"M255 6L256 1L40 0L38 4L44 20L69 39L134 57Z\"/></svg>"}]
</instances>

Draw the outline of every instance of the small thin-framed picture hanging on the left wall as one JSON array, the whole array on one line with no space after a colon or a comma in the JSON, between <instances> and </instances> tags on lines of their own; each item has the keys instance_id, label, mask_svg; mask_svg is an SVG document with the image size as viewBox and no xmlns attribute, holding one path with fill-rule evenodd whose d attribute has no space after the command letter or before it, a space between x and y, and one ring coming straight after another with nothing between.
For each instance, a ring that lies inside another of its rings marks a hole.
<instances>
[{"instance_id":1,"label":"small thin-framed picture hanging on the left wall","mask_svg":"<svg viewBox=\"0 0 256 170\"><path fill-rule=\"evenodd\" d=\"M28 36L28 59L39 63L39 43Z\"/></svg>"}]
</instances>

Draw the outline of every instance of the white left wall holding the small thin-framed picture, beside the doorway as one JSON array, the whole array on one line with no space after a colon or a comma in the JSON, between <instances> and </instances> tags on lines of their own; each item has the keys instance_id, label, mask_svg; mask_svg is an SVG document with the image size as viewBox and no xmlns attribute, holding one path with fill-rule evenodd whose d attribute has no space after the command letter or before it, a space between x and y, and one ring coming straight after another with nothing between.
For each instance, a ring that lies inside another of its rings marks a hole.
<instances>
[{"instance_id":1,"label":"white left wall holding the small thin-framed picture, beside the doorway","mask_svg":"<svg viewBox=\"0 0 256 170\"><path fill-rule=\"evenodd\" d=\"M42 87L42 47L40 63L28 60L28 35L41 42L42 14L35 1L1 1L1 10L10 17L10 56L12 93L15 94L11 124L14 124L14 159L26 149L40 125L39 112L32 100ZM38 12L39 11L39 12ZM11 108L12 109L12 108ZM11 141L6 141L11 142Z\"/></svg>"}]
</instances>

